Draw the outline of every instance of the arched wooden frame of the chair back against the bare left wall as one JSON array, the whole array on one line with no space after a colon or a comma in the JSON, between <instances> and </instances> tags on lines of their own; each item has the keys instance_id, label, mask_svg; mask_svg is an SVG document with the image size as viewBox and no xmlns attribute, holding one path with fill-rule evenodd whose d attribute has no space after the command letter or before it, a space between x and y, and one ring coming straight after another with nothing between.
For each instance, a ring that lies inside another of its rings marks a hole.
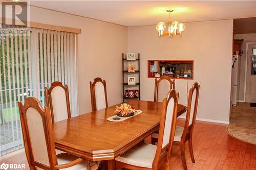
<instances>
[{"instance_id":1,"label":"arched wooden frame of the chair back against the bare left wall","mask_svg":"<svg viewBox=\"0 0 256 170\"><path fill-rule=\"evenodd\" d=\"M93 82L90 81L90 91L91 91L91 104L92 104L92 111L97 110L97 106L96 106L96 96L95 96L95 84L97 82L101 82L104 86L104 93L105 93L105 105L106 107L108 107L108 99L106 96L106 81L103 80L99 77L95 78L93 80Z\"/></svg>"}]
</instances>

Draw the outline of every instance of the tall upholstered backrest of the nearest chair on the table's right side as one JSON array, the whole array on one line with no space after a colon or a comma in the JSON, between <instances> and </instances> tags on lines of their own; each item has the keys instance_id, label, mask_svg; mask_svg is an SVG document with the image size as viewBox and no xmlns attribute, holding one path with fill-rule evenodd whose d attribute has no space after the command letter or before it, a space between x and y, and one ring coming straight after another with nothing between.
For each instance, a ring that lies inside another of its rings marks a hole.
<instances>
[{"instance_id":1,"label":"tall upholstered backrest of the nearest chair on the table's right side","mask_svg":"<svg viewBox=\"0 0 256 170\"><path fill-rule=\"evenodd\" d=\"M159 127L159 138L157 143L157 151L153 162L153 169L158 169L159 160L164 151L170 154L175 135L176 119L177 119L177 105L179 100L179 93L175 90L169 90L167 98L162 102L162 115Z\"/></svg>"}]
</instances>

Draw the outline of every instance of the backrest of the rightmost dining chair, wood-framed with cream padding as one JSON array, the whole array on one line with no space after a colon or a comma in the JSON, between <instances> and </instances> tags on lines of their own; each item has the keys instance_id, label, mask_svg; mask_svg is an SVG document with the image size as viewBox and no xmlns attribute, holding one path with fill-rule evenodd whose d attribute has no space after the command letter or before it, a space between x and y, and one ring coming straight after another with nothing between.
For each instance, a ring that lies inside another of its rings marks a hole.
<instances>
[{"instance_id":1,"label":"backrest of the rightmost dining chair, wood-framed with cream padding","mask_svg":"<svg viewBox=\"0 0 256 170\"><path fill-rule=\"evenodd\" d=\"M184 130L183 130L181 140L185 140L187 131L192 132L194 129L194 125L197 117L199 89L200 89L200 85L198 85L198 83L196 82L193 84L193 86L189 90L187 114L186 114L186 120L185 120L185 125L184 125Z\"/></svg>"}]
</instances>

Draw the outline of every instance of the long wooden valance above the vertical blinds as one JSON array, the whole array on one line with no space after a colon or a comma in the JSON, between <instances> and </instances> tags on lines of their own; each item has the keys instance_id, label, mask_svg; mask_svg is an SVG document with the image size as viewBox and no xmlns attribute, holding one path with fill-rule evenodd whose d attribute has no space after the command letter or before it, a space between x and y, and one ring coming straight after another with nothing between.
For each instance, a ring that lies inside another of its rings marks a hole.
<instances>
[{"instance_id":1,"label":"long wooden valance above the vertical blinds","mask_svg":"<svg viewBox=\"0 0 256 170\"><path fill-rule=\"evenodd\" d=\"M12 25L12 19L10 18L5 18L6 21L3 23L3 18L0 17L1 19L1 24L5 25ZM23 26L24 23L20 22L20 20L15 20L16 26ZM81 29L77 28L70 28L70 27L63 27L63 26L54 26L54 25L49 25L46 23L39 23L39 22L27 22L29 28L36 28L36 29L46 29L46 30L53 30L53 31L63 31L63 32L70 32L70 33L81 33Z\"/></svg>"}]
</instances>

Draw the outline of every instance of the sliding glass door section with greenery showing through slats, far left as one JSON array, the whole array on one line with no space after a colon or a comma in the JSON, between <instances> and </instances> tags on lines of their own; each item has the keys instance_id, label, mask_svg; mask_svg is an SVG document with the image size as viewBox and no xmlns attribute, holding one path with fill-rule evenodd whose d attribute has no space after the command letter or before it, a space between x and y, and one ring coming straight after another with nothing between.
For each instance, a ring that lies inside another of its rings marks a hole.
<instances>
[{"instance_id":1,"label":"sliding glass door section with greenery showing through slats, far left","mask_svg":"<svg viewBox=\"0 0 256 170\"><path fill-rule=\"evenodd\" d=\"M32 91L29 42L26 34L1 35L1 155L23 147L17 101Z\"/></svg>"}]
</instances>

